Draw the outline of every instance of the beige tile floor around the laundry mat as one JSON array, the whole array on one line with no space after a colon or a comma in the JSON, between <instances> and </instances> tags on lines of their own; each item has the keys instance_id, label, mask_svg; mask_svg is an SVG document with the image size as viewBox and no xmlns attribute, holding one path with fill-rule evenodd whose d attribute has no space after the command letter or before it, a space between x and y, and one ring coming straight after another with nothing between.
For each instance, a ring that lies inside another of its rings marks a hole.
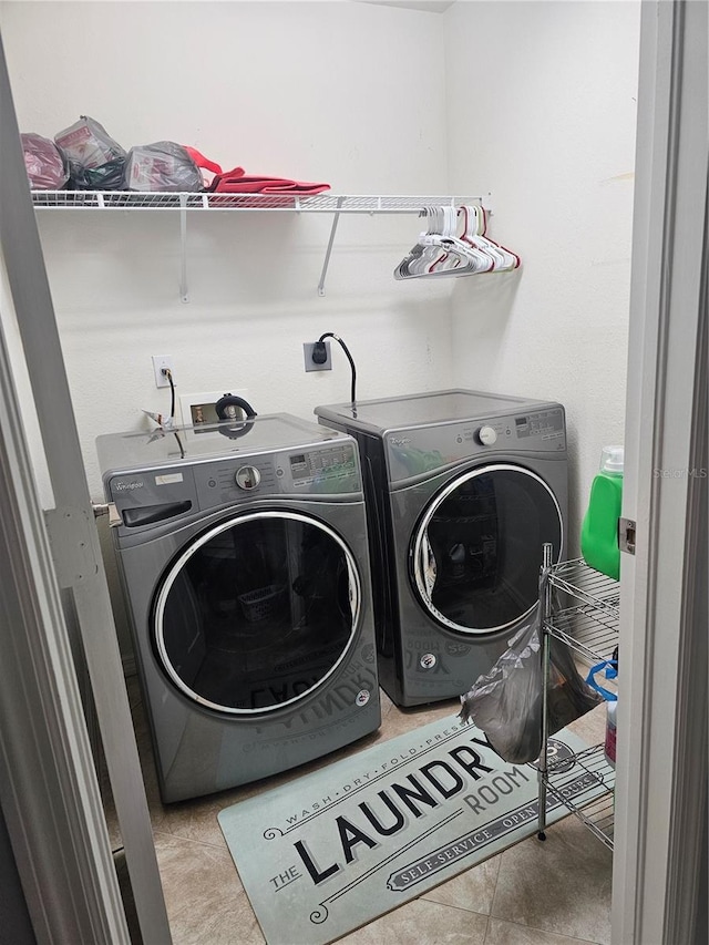
<instances>
[{"instance_id":1,"label":"beige tile floor around the laundry mat","mask_svg":"<svg viewBox=\"0 0 709 945\"><path fill-rule=\"evenodd\" d=\"M174 945L264 945L258 922L217 823L226 807L310 770L454 715L458 702L400 709L382 692L382 726L297 771L208 798L163 805L136 677L127 680L155 849ZM571 728L603 739L605 707ZM105 785L105 778L103 779ZM120 833L105 789L112 843ZM418 900L346 935L342 945L573 945L610 942L612 853L575 818L532 836ZM146 945L150 945L147 943Z\"/></svg>"}]
</instances>

